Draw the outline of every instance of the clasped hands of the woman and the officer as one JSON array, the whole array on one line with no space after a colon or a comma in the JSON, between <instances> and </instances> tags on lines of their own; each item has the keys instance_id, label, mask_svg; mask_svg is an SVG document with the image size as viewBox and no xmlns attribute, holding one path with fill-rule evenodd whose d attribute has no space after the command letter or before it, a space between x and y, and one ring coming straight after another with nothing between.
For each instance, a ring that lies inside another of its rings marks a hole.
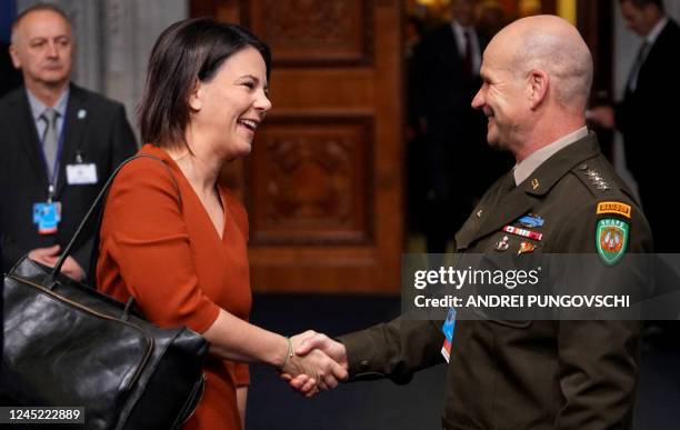
<instances>
[{"instance_id":1,"label":"clasped hands of the woman and the officer","mask_svg":"<svg viewBox=\"0 0 680 430\"><path fill-rule=\"evenodd\" d=\"M280 377L300 394L312 397L348 378L347 350L328 336L308 330L290 338Z\"/></svg>"}]
</instances>

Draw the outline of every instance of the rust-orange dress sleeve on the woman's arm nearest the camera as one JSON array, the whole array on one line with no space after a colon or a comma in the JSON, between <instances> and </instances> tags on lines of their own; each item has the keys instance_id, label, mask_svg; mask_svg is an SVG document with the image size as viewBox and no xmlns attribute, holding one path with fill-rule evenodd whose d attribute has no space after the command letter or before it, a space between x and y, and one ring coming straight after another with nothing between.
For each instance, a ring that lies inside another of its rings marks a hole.
<instances>
[{"instance_id":1,"label":"rust-orange dress sleeve on the woman's arm nearest the camera","mask_svg":"<svg viewBox=\"0 0 680 430\"><path fill-rule=\"evenodd\" d=\"M139 159L116 179L107 200L102 246L138 307L161 327L206 331L220 308L198 284L174 179L159 161Z\"/></svg>"}]
</instances>

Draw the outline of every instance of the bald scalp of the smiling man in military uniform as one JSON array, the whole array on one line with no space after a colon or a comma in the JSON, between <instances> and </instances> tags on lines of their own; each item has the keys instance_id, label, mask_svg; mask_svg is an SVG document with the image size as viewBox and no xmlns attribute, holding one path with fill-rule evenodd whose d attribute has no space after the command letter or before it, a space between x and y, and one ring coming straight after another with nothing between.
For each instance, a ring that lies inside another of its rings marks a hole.
<instances>
[{"instance_id":1,"label":"bald scalp of the smiling man in military uniform","mask_svg":"<svg viewBox=\"0 0 680 430\"><path fill-rule=\"evenodd\" d=\"M561 107L586 108L592 86L592 56L578 30L562 18L537 16L517 20L491 40L488 51L503 54L516 76L526 77L536 69L544 71Z\"/></svg>"}]
</instances>

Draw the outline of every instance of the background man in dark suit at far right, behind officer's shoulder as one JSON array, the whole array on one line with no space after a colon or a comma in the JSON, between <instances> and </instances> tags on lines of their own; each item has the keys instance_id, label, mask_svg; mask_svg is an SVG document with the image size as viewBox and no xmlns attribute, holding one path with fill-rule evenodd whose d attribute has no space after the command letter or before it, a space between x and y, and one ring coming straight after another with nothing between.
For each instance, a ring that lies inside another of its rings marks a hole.
<instances>
[{"instance_id":1,"label":"background man in dark suit at far right, behind officer's shoulder","mask_svg":"<svg viewBox=\"0 0 680 430\"><path fill-rule=\"evenodd\" d=\"M674 227L676 213L668 206L667 184L680 158L680 28L666 16L661 0L620 2L628 27L642 38L642 46L630 70L623 101L593 108L590 119L622 132L626 160L654 233L654 251L678 252L680 231Z\"/></svg>"}]
</instances>

